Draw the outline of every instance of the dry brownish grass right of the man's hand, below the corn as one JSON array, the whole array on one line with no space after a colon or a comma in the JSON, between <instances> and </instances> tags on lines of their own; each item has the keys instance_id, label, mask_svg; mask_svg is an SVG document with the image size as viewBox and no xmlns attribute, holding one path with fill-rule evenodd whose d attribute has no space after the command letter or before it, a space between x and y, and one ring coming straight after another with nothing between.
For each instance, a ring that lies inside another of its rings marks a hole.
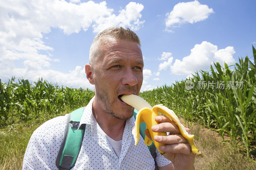
<instances>
[{"instance_id":1,"label":"dry brownish grass right of the man's hand, below the corn","mask_svg":"<svg viewBox=\"0 0 256 170\"><path fill-rule=\"evenodd\" d=\"M246 152L241 153L230 143L221 143L222 137L218 132L199 124L186 126L195 135L196 147L203 153L202 156L196 156L194 164L196 169L256 169L255 160L247 158Z\"/></svg>"}]
</instances>

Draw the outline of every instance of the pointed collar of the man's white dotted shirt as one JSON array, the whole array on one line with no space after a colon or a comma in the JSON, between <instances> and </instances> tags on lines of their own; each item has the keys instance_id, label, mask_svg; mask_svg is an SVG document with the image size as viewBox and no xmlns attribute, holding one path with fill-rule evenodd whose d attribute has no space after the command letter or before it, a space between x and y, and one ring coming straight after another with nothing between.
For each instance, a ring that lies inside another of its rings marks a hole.
<instances>
[{"instance_id":1,"label":"pointed collar of the man's white dotted shirt","mask_svg":"<svg viewBox=\"0 0 256 170\"><path fill-rule=\"evenodd\" d=\"M90 100L90 102L88 103L88 105L86 107L84 107L84 113L81 117L81 120L80 120L80 123L79 123L79 126L77 129L79 129L82 124L89 124L89 125L91 125L92 130L94 129L95 123L93 120L94 116L92 114L92 103L93 103L94 98L95 98L95 96L93 96L92 99ZM126 121L125 126L127 126L128 129L132 129L132 127L134 126L134 122L135 122L135 119L132 116L131 119L128 119Z\"/></svg>"}]
</instances>

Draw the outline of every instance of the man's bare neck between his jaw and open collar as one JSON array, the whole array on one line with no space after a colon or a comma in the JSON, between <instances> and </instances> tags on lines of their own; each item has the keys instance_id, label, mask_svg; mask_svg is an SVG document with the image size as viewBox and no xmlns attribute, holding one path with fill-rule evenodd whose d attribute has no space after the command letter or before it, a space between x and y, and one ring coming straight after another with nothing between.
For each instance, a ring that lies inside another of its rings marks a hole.
<instances>
[{"instance_id":1,"label":"man's bare neck between his jaw and open collar","mask_svg":"<svg viewBox=\"0 0 256 170\"><path fill-rule=\"evenodd\" d=\"M94 99L92 114L100 128L115 141L122 140L126 120L117 119L103 111L100 103Z\"/></svg>"}]
</instances>

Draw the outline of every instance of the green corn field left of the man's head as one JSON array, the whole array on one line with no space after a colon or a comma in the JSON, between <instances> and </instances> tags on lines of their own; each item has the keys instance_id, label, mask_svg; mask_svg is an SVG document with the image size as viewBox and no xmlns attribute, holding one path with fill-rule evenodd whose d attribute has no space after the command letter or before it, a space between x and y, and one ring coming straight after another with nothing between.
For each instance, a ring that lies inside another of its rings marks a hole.
<instances>
[{"instance_id":1,"label":"green corn field left of the man's head","mask_svg":"<svg viewBox=\"0 0 256 170\"><path fill-rule=\"evenodd\" d=\"M94 96L94 91L83 88L59 87L39 79L34 84L28 80L12 78L7 83L0 79L0 125L14 121L26 122L45 114L63 112L66 107L85 106Z\"/></svg>"}]
</instances>

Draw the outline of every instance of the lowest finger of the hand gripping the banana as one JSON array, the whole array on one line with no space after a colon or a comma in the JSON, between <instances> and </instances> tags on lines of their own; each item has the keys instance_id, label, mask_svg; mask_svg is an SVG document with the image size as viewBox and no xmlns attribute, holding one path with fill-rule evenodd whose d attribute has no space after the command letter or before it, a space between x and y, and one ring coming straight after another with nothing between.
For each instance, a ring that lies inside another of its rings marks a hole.
<instances>
[{"instance_id":1,"label":"lowest finger of the hand gripping the banana","mask_svg":"<svg viewBox=\"0 0 256 170\"><path fill-rule=\"evenodd\" d=\"M191 154L190 145L182 143L161 145L159 146L159 150L163 152Z\"/></svg>"}]
</instances>

